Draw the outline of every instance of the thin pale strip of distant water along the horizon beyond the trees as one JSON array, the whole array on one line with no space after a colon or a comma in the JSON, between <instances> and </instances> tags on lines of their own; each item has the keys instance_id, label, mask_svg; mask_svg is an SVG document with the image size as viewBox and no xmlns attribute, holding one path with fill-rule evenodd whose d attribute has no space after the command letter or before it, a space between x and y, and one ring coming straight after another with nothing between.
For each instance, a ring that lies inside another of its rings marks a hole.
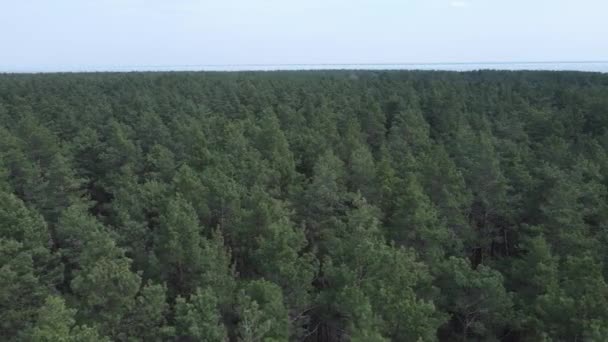
<instances>
[{"instance_id":1,"label":"thin pale strip of distant water along the horizon beyond the trees","mask_svg":"<svg viewBox=\"0 0 608 342\"><path fill-rule=\"evenodd\" d=\"M273 70L553 70L608 73L608 61L597 62L484 62L484 63L364 63L364 64L209 64L150 66L72 66L48 69L6 69L0 73L120 72L120 71L273 71Z\"/></svg>"}]
</instances>

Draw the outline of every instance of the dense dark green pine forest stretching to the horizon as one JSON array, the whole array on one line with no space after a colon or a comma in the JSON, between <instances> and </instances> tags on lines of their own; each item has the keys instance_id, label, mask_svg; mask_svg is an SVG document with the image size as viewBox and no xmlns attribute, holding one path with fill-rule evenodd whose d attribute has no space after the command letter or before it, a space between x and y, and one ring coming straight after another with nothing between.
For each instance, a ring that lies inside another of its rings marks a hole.
<instances>
[{"instance_id":1,"label":"dense dark green pine forest stretching to the horizon","mask_svg":"<svg viewBox=\"0 0 608 342\"><path fill-rule=\"evenodd\" d=\"M607 341L608 74L0 75L3 341Z\"/></svg>"}]
</instances>

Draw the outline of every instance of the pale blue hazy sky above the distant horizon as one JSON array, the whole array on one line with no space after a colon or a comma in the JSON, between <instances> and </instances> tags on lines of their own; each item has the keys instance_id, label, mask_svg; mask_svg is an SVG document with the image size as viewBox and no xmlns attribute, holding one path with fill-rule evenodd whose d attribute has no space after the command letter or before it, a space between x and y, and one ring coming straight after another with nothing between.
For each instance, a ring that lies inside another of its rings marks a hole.
<instances>
[{"instance_id":1,"label":"pale blue hazy sky above the distant horizon","mask_svg":"<svg viewBox=\"0 0 608 342\"><path fill-rule=\"evenodd\" d=\"M0 0L0 71L608 61L607 0Z\"/></svg>"}]
</instances>

